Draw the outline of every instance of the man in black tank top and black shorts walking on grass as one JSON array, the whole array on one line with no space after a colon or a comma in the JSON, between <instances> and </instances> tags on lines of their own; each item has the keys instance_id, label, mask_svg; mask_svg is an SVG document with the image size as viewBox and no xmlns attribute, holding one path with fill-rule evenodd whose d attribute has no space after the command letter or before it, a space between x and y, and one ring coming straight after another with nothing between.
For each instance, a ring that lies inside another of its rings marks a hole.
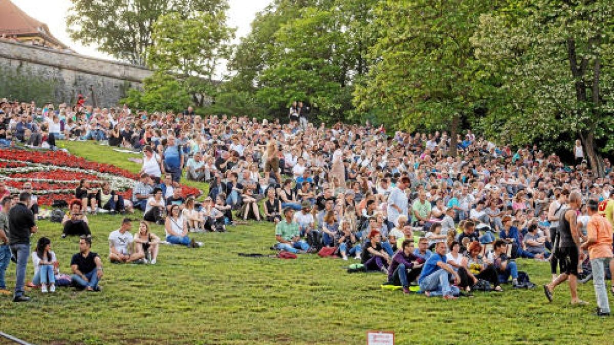
<instances>
[{"instance_id":1,"label":"man in black tank top and black shorts walking on grass","mask_svg":"<svg viewBox=\"0 0 614 345\"><path fill-rule=\"evenodd\" d=\"M580 233L578 231L578 209L582 204L582 195L577 190L569 194L569 209L562 213L559 220L559 254L561 260L561 274L550 282L543 285L543 291L552 301L552 292L562 282L569 281L569 290L572 295L572 304L586 304L578 298L578 262L583 260L584 254L578 250L580 247ZM555 249L556 250L556 249Z\"/></svg>"}]
</instances>

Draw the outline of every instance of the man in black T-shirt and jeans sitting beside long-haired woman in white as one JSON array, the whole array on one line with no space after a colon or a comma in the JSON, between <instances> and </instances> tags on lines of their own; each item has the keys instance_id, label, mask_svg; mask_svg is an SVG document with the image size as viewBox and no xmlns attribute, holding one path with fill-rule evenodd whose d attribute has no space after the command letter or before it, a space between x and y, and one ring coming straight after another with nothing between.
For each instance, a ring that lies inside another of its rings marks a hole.
<instances>
[{"instance_id":1,"label":"man in black T-shirt and jeans sitting beside long-haired woman in white","mask_svg":"<svg viewBox=\"0 0 614 345\"><path fill-rule=\"evenodd\" d=\"M81 236L79 253L72 255L72 285L79 290L100 291L98 283L103 277L103 262L95 252L91 252L91 238Z\"/></svg>"}]
</instances>

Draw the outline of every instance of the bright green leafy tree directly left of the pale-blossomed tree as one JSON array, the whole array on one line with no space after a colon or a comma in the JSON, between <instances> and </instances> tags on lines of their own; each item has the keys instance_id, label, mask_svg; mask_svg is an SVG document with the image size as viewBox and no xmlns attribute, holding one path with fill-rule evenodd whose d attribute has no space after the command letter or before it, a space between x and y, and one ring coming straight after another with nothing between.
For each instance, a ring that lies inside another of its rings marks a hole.
<instances>
[{"instance_id":1,"label":"bright green leafy tree directly left of the pale-blossomed tree","mask_svg":"<svg viewBox=\"0 0 614 345\"><path fill-rule=\"evenodd\" d=\"M372 27L381 39L370 49L376 62L355 93L358 109L375 109L396 128L449 128L454 141L479 105L482 85L475 82L469 39L493 6L481 0L379 2Z\"/></svg>"}]
</instances>

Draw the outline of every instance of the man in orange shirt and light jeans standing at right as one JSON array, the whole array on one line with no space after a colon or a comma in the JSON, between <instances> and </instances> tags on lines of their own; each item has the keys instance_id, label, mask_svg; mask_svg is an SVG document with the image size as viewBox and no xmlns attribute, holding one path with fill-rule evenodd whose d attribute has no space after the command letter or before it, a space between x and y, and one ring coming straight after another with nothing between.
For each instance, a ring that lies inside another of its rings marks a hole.
<instances>
[{"instance_id":1,"label":"man in orange shirt and light jeans standing at right","mask_svg":"<svg viewBox=\"0 0 614 345\"><path fill-rule=\"evenodd\" d=\"M605 217L599 214L599 203L589 200L588 215L591 219L586 226L588 240L581 245L581 249L588 249L593 268L593 284L597 296L597 316L610 316L608 292L605 289L605 268L612 260L612 225Z\"/></svg>"}]
</instances>

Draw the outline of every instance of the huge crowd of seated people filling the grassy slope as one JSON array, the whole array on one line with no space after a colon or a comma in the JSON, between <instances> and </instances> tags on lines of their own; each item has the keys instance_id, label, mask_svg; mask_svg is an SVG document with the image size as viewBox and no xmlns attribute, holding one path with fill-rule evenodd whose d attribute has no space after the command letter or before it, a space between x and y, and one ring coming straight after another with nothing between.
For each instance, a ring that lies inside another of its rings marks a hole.
<instances>
[{"instance_id":1,"label":"huge crowd of seated people filling the grassy slope","mask_svg":"<svg viewBox=\"0 0 614 345\"><path fill-rule=\"evenodd\" d=\"M335 247L335 255L386 273L405 292L416 281L426 295L445 298L484 281L499 291L510 277L512 287L526 287L515 258L550 262L553 282L544 287L550 298L562 277L574 285L585 250L591 262L603 255L604 266L612 257L612 212L605 215L610 222L597 223L593 210L599 203L614 207L612 166L605 160L605 177L593 175L581 145L575 162L565 165L535 145L512 150L467 130L455 138L458 154L451 157L448 133L314 125L301 103L290 107L287 124L201 117L191 107L174 114L4 102L0 109L0 139L35 146L45 138L95 140L141 151L131 200L112 191L103 199L84 185L79 207L141 209L144 220L165 225L173 244L197 246L190 231L271 222L274 249L298 254ZM208 182L203 202L177 194L182 176ZM581 246L577 255L561 250L572 246ZM594 246L603 250L592 254Z\"/></svg>"}]
</instances>

